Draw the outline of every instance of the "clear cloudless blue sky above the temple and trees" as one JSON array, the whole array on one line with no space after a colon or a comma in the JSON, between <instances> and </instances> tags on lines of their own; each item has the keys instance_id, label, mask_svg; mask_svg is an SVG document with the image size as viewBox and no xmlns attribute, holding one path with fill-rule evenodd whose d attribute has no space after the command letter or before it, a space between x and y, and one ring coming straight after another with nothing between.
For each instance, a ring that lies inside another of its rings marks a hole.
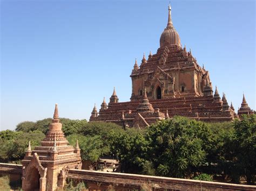
<instances>
[{"instance_id":1,"label":"clear cloudless blue sky above the temple and trees","mask_svg":"<svg viewBox=\"0 0 256 191\"><path fill-rule=\"evenodd\" d=\"M1 1L1 130L52 117L89 119L116 87L129 101L130 74L156 53L169 1ZM255 2L171 1L183 46L210 72L235 110L255 109ZM140 62L139 62L140 63Z\"/></svg>"}]
</instances>

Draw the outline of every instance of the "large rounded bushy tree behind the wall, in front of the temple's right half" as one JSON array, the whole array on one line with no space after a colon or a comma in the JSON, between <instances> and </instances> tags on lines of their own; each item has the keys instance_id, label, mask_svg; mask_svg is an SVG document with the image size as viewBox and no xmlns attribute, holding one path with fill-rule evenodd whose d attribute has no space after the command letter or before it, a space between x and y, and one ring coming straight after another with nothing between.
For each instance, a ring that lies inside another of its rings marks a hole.
<instances>
[{"instance_id":1,"label":"large rounded bushy tree behind the wall, in front of the temple's right half","mask_svg":"<svg viewBox=\"0 0 256 191\"><path fill-rule=\"evenodd\" d=\"M208 133L210 129L203 122L178 116L147 128L148 159L156 174L184 178L192 168L205 164Z\"/></svg>"}]
</instances>

